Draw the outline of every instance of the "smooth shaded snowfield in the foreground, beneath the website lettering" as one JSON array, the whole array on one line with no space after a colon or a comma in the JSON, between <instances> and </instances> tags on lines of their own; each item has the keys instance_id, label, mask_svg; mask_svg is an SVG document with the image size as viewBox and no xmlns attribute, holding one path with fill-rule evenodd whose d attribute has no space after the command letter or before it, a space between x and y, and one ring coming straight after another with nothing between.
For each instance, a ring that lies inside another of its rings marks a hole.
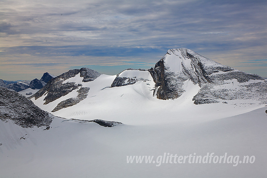
<instances>
[{"instance_id":1,"label":"smooth shaded snowfield in the foreground, beneath the website lettering","mask_svg":"<svg viewBox=\"0 0 267 178\"><path fill-rule=\"evenodd\" d=\"M61 118L54 118L49 130L22 128L0 121L1 177L266 177L265 110L266 107L197 123L181 120L172 124L110 128ZM160 166L127 164L130 155L196 153L204 156L208 152L255 156L255 162L237 166L188 162Z\"/></svg>"}]
</instances>

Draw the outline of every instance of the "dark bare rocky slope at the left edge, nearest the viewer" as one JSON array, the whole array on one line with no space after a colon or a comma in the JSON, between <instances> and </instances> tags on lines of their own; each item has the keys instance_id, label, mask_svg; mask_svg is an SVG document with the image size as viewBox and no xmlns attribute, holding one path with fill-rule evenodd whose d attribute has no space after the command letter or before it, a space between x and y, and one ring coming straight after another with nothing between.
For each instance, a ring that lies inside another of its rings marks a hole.
<instances>
[{"instance_id":1,"label":"dark bare rocky slope at the left edge, nearest the viewer","mask_svg":"<svg viewBox=\"0 0 267 178\"><path fill-rule=\"evenodd\" d=\"M0 119L11 120L21 127L49 126L52 116L41 110L25 96L0 87Z\"/></svg>"}]
</instances>

